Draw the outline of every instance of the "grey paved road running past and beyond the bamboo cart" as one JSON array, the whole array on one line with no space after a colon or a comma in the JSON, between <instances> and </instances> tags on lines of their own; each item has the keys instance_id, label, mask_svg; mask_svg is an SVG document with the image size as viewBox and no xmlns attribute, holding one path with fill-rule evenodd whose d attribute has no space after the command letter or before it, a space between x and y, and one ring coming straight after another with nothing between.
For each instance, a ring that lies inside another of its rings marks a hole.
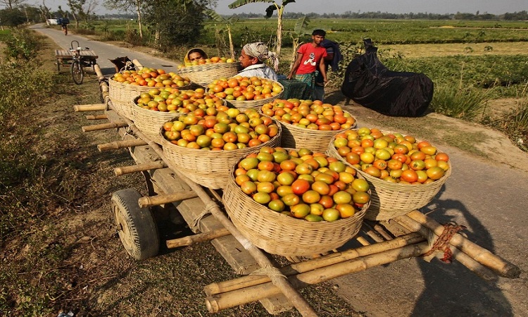
<instances>
[{"instance_id":1,"label":"grey paved road running past and beyond the bamboo cart","mask_svg":"<svg viewBox=\"0 0 528 317\"><path fill-rule=\"evenodd\" d=\"M144 66L166 70L175 63L58 30L37 27L68 48L72 39L99 54L98 63L113 73L108 58L129 56ZM358 118L358 126L365 126ZM424 136L427 137L427 136ZM466 225L470 240L512 261L522 269L521 278L484 282L459 263L438 260L402 260L387 266L334 280L339 293L365 316L528 316L528 232L526 193L528 173L475 158L455 148L450 154L453 173L432 204L440 223Z\"/></svg>"}]
</instances>

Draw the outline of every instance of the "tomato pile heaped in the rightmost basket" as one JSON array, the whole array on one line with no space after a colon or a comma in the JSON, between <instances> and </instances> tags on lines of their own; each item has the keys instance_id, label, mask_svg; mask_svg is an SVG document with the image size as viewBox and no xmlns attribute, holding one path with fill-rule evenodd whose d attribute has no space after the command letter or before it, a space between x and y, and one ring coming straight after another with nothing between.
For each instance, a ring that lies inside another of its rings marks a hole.
<instances>
[{"instance_id":1,"label":"tomato pile heaped in the rightmost basket","mask_svg":"<svg viewBox=\"0 0 528 317\"><path fill-rule=\"evenodd\" d=\"M360 128L337 134L332 145L351 166L387 182L429 184L450 168L448 154L411 135Z\"/></svg>"}]
</instances>

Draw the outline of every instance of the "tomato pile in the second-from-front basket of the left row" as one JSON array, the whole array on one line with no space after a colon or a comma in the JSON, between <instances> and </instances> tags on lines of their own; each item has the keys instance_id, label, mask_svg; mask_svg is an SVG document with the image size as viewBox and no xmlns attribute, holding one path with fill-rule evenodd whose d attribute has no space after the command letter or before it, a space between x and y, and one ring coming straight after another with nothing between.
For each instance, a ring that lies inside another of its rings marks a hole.
<instances>
[{"instance_id":1,"label":"tomato pile in the second-from-front basket of the left row","mask_svg":"<svg viewBox=\"0 0 528 317\"><path fill-rule=\"evenodd\" d=\"M271 118L255 109L227 106L198 108L163 125L163 137L172 144L211 151L256 147L279 132Z\"/></svg>"}]
</instances>

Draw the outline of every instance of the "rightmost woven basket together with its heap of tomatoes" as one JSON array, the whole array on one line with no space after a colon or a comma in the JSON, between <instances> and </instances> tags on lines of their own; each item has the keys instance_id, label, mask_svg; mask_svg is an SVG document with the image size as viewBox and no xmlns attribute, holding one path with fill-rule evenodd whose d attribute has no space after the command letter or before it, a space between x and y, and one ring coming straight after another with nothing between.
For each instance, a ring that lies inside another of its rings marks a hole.
<instances>
[{"instance_id":1,"label":"rightmost woven basket together with its heap of tomatoes","mask_svg":"<svg viewBox=\"0 0 528 317\"><path fill-rule=\"evenodd\" d=\"M370 183L365 218L389 220L422 208L451 175L448 154L412 135L360 128L332 138L327 153L355 168Z\"/></svg>"}]
</instances>

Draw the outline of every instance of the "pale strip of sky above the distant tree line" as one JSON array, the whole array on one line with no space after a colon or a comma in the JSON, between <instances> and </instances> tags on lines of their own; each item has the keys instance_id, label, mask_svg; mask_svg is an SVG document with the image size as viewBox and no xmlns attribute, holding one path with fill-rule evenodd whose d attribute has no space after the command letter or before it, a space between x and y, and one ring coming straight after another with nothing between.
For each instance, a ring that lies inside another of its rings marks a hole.
<instances>
[{"instance_id":1,"label":"pale strip of sky above the distant tree line","mask_svg":"<svg viewBox=\"0 0 528 317\"><path fill-rule=\"evenodd\" d=\"M68 9L65 0L44 0L46 6L56 11L58 6ZM268 3L246 4L240 8L230 9L229 4L235 0L218 0L215 11L222 15L234 13L263 13ZM276 0L282 4L282 0ZM28 4L42 4L41 0L28 0ZM100 0L99 3L103 1ZM527 0L296 0L287 4L286 12L295 13L343 13L352 12L387 12L387 13L482 13L502 14L506 12L528 11ZM96 13L115 13L103 8L102 4Z\"/></svg>"}]
</instances>

